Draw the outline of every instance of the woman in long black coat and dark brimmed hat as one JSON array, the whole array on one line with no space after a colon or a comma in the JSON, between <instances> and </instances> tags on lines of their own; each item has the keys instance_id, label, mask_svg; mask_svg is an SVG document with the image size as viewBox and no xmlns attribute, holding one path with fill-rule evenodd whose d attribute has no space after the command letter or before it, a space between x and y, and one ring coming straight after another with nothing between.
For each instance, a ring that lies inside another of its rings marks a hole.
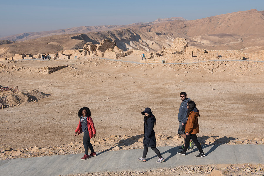
<instances>
[{"instance_id":1,"label":"woman in long black coat and dark brimmed hat","mask_svg":"<svg viewBox=\"0 0 264 176\"><path fill-rule=\"evenodd\" d=\"M154 131L154 125L156 125L156 118L152 114L152 111L150 108L145 108L145 111L141 112L144 116L144 139L143 139L143 145L144 145L144 151L143 156L141 158L138 158L139 161L146 162L146 156L148 153L148 147L150 147L159 157L157 163L162 163L164 161L164 158L161 156L160 151L158 148L156 148L157 141Z\"/></svg>"}]
</instances>

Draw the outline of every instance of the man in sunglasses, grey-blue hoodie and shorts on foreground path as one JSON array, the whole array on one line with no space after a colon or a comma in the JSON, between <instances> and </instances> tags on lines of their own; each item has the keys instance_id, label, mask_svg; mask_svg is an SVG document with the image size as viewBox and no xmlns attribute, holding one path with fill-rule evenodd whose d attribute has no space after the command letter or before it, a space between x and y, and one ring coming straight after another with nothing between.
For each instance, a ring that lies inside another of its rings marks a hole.
<instances>
[{"instance_id":1,"label":"man in sunglasses, grey-blue hoodie and shorts on foreground path","mask_svg":"<svg viewBox=\"0 0 264 176\"><path fill-rule=\"evenodd\" d=\"M179 129L178 129L178 134L181 135L184 138L184 144L179 147L180 150L183 150L184 145L185 145L185 138L186 138L186 134L185 134L185 124L187 121L187 103L188 101L190 101L191 99L187 98L187 94L186 92L181 92L180 93L180 98L182 100L182 103L180 105L180 109L179 109L179 113L178 113L178 120L180 122L179 125ZM190 148L192 149L194 146L193 142L190 142Z\"/></svg>"}]
</instances>

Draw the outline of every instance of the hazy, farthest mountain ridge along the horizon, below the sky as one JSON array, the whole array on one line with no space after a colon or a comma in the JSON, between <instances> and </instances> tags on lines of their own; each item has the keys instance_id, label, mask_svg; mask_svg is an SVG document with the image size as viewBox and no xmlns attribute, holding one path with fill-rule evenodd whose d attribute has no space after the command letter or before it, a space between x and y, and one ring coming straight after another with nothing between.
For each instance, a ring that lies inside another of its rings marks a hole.
<instances>
[{"instance_id":1,"label":"hazy, farthest mountain ridge along the horizon, below the sky","mask_svg":"<svg viewBox=\"0 0 264 176\"><path fill-rule=\"evenodd\" d=\"M67 29L59 29L54 31L44 31L44 32L30 32L30 33L20 33L11 36L5 36L0 38L0 40L13 40L13 41L23 41L23 40L30 40L36 39L40 37L48 37L51 35L63 35L63 34L76 34L76 33L88 33L88 32L100 32L100 31L112 31L121 27L128 27L128 26L138 26L138 25L151 25L156 24L164 21L175 21L175 20L186 20L182 17L172 17L172 18L158 18L153 22L148 23L133 23L128 25L108 25L108 26L80 26L76 28L67 28Z\"/></svg>"}]
</instances>

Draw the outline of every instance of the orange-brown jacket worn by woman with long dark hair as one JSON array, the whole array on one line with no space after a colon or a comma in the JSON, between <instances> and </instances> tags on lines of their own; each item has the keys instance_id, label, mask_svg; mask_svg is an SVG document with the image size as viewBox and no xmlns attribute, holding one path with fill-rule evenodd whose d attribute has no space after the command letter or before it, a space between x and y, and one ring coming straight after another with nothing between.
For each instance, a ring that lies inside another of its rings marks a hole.
<instances>
[{"instance_id":1,"label":"orange-brown jacket worn by woman with long dark hair","mask_svg":"<svg viewBox=\"0 0 264 176\"><path fill-rule=\"evenodd\" d=\"M188 119L186 121L185 133L189 133L189 134L199 133L198 117L199 117L199 111L198 112L194 112L194 111L190 112Z\"/></svg>"}]
</instances>

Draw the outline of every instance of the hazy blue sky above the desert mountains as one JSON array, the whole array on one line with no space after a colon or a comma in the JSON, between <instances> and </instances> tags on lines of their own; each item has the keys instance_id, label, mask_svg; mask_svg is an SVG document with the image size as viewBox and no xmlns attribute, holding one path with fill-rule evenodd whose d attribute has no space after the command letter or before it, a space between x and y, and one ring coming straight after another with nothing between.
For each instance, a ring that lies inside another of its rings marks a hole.
<instances>
[{"instance_id":1,"label":"hazy blue sky above the desert mountains","mask_svg":"<svg viewBox=\"0 0 264 176\"><path fill-rule=\"evenodd\" d=\"M263 11L264 0L0 0L0 36L157 18L194 20L250 9Z\"/></svg>"}]
</instances>

